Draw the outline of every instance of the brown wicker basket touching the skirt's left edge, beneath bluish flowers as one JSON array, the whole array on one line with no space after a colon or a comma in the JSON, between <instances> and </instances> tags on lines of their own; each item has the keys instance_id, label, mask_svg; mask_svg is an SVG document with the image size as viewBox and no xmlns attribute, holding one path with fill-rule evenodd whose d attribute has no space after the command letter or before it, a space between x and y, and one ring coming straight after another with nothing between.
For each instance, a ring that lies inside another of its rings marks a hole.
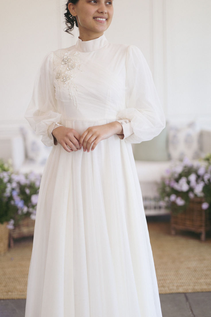
<instances>
[{"instance_id":1,"label":"brown wicker basket touching the skirt's left edge, beneath bluish flowers","mask_svg":"<svg viewBox=\"0 0 211 317\"><path fill-rule=\"evenodd\" d=\"M10 247L13 248L13 239L28 237L34 235L35 220L30 217L25 217L20 223L12 230L10 230Z\"/></svg>"}]
</instances>

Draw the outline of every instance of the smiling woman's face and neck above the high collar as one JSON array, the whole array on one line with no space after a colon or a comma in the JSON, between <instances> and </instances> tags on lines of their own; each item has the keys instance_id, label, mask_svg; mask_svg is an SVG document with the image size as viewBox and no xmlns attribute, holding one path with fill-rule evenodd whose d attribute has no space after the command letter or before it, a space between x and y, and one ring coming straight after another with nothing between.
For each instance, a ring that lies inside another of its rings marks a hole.
<instances>
[{"instance_id":1,"label":"smiling woman's face and neck above the high collar","mask_svg":"<svg viewBox=\"0 0 211 317\"><path fill-rule=\"evenodd\" d=\"M87 41L108 29L113 17L113 0L79 0L69 3L68 9L78 21L80 38Z\"/></svg>"}]
</instances>

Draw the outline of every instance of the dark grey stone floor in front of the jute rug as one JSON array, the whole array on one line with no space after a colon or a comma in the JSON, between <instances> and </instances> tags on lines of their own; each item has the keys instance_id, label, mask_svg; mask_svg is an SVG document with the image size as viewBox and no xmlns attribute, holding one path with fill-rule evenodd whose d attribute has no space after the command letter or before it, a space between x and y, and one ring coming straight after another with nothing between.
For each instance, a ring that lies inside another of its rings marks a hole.
<instances>
[{"instance_id":1,"label":"dark grey stone floor in front of the jute rug","mask_svg":"<svg viewBox=\"0 0 211 317\"><path fill-rule=\"evenodd\" d=\"M211 292L160 294L160 302L163 317L211 317ZM0 316L24 317L25 306L24 299L0 300Z\"/></svg>"}]
</instances>

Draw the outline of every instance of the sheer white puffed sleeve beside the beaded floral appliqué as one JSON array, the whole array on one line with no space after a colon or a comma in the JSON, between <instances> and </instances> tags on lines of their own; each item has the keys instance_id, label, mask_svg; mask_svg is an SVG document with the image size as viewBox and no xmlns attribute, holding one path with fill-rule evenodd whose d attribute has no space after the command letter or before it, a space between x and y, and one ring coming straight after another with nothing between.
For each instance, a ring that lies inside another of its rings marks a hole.
<instances>
[{"instance_id":1,"label":"sheer white puffed sleeve beside the beaded floral appliqu\u00e9","mask_svg":"<svg viewBox=\"0 0 211 317\"><path fill-rule=\"evenodd\" d=\"M53 52L50 52L42 61L36 75L32 98L24 115L35 133L42 135L41 140L46 146L57 145L51 133L55 123L57 126L62 125L63 117L57 109L53 81Z\"/></svg>"}]
</instances>

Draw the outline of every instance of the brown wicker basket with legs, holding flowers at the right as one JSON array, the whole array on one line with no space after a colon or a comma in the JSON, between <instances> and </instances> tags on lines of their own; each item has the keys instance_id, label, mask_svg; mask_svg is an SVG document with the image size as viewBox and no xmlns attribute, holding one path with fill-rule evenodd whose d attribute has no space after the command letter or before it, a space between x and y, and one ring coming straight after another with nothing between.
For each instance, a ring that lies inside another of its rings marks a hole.
<instances>
[{"instance_id":1,"label":"brown wicker basket with legs, holding flowers at the right","mask_svg":"<svg viewBox=\"0 0 211 317\"><path fill-rule=\"evenodd\" d=\"M174 213L176 206L171 210L171 234L176 234L178 230L189 230L201 233L201 240L205 241L206 231L210 229L210 217L208 210L203 210L201 204L203 197L195 197L190 200L186 210Z\"/></svg>"}]
</instances>

